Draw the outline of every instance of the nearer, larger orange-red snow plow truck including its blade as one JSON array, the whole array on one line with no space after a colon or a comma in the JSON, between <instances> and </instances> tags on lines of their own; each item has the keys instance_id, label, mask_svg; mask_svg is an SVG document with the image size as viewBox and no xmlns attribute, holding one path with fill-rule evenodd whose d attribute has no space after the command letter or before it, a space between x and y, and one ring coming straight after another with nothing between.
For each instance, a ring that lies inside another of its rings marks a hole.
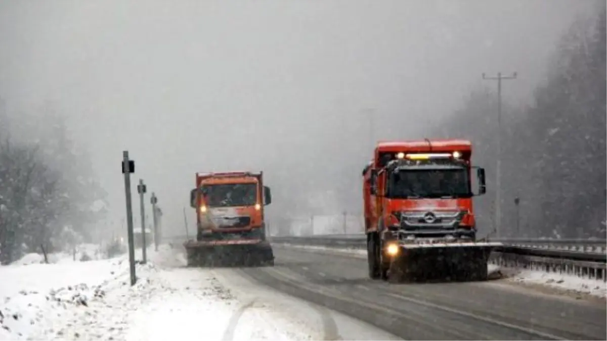
<instances>
[{"instance_id":1,"label":"nearer, larger orange-red snow plow truck including its blade","mask_svg":"<svg viewBox=\"0 0 607 341\"><path fill-rule=\"evenodd\" d=\"M362 176L371 279L484 280L490 252L476 241L472 198L486 192L466 140L380 142ZM476 169L478 194L472 192Z\"/></svg>"}]
</instances>

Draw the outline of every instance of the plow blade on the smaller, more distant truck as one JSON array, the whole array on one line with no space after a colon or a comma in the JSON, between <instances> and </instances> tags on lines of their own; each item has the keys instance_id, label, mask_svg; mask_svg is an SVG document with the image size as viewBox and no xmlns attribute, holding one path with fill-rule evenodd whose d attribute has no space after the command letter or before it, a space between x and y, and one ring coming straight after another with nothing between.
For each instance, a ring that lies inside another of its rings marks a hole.
<instances>
[{"instance_id":1,"label":"plow blade on the smaller, more distant truck","mask_svg":"<svg viewBox=\"0 0 607 341\"><path fill-rule=\"evenodd\" d=\"M268 241L214 240L184 243L188 266L274 266L274 252Z\"/></svg>"}]
</instances>

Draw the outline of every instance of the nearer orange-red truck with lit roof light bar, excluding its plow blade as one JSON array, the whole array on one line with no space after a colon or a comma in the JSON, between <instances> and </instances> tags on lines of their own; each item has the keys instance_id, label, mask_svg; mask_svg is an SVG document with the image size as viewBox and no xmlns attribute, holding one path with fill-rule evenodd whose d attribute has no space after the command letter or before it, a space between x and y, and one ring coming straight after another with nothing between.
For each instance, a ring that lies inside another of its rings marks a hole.
<instances>
[{"instance_id":1,"label":"nearer orange-red truck with lit roof light bar, excluding its plow blade","mask_svg":"<svg viewBox=\"0 0 607 341\"><path fill-rule=\"evenodd\" d=\"M377 144L373 163L363 171L372 278L385 276L390 257L382 254L396 254L413 240L476 240L473 168L479 184L476 195L484 194L486 185L484 169L473 167L471 157L472 143L467 140Z\"/></svg>"}]
</instances>

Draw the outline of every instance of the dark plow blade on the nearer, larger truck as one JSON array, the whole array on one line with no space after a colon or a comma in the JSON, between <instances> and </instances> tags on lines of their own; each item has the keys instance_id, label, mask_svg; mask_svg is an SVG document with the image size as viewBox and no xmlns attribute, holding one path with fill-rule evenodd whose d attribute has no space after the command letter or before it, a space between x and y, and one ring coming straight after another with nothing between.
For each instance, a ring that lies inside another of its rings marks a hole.
<instances>
[{"instance_id":1,"label":"dark plow blade on the nearer, larger truck","mask_svg":"<svg viewBox=\"0 0 607 341\"><path fill-rule=\"evenodd\" d=\"M501 243L400 243L392 256L388 279L393 283L432 280L487 280L489 255Z\"/></svg>"}]
</instances>

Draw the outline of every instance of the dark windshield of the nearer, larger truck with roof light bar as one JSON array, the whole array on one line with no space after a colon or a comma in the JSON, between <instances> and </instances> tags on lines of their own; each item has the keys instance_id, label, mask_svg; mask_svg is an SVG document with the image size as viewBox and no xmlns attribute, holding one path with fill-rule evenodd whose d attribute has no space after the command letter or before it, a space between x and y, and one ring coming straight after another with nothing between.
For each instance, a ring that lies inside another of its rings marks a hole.
<instances>
[{"instance_id":1,"label":"dark windshield of the nearer, larger truck with roof light bar","mask_svg":"<svg viewBox=\"0 0 607 341\"><path fill-rule=\"evenodd\" d=\"M400 170L390 176L387 186L390 198L469 198L470 180L467 169Z\"/></svg>"}]
</instances>

